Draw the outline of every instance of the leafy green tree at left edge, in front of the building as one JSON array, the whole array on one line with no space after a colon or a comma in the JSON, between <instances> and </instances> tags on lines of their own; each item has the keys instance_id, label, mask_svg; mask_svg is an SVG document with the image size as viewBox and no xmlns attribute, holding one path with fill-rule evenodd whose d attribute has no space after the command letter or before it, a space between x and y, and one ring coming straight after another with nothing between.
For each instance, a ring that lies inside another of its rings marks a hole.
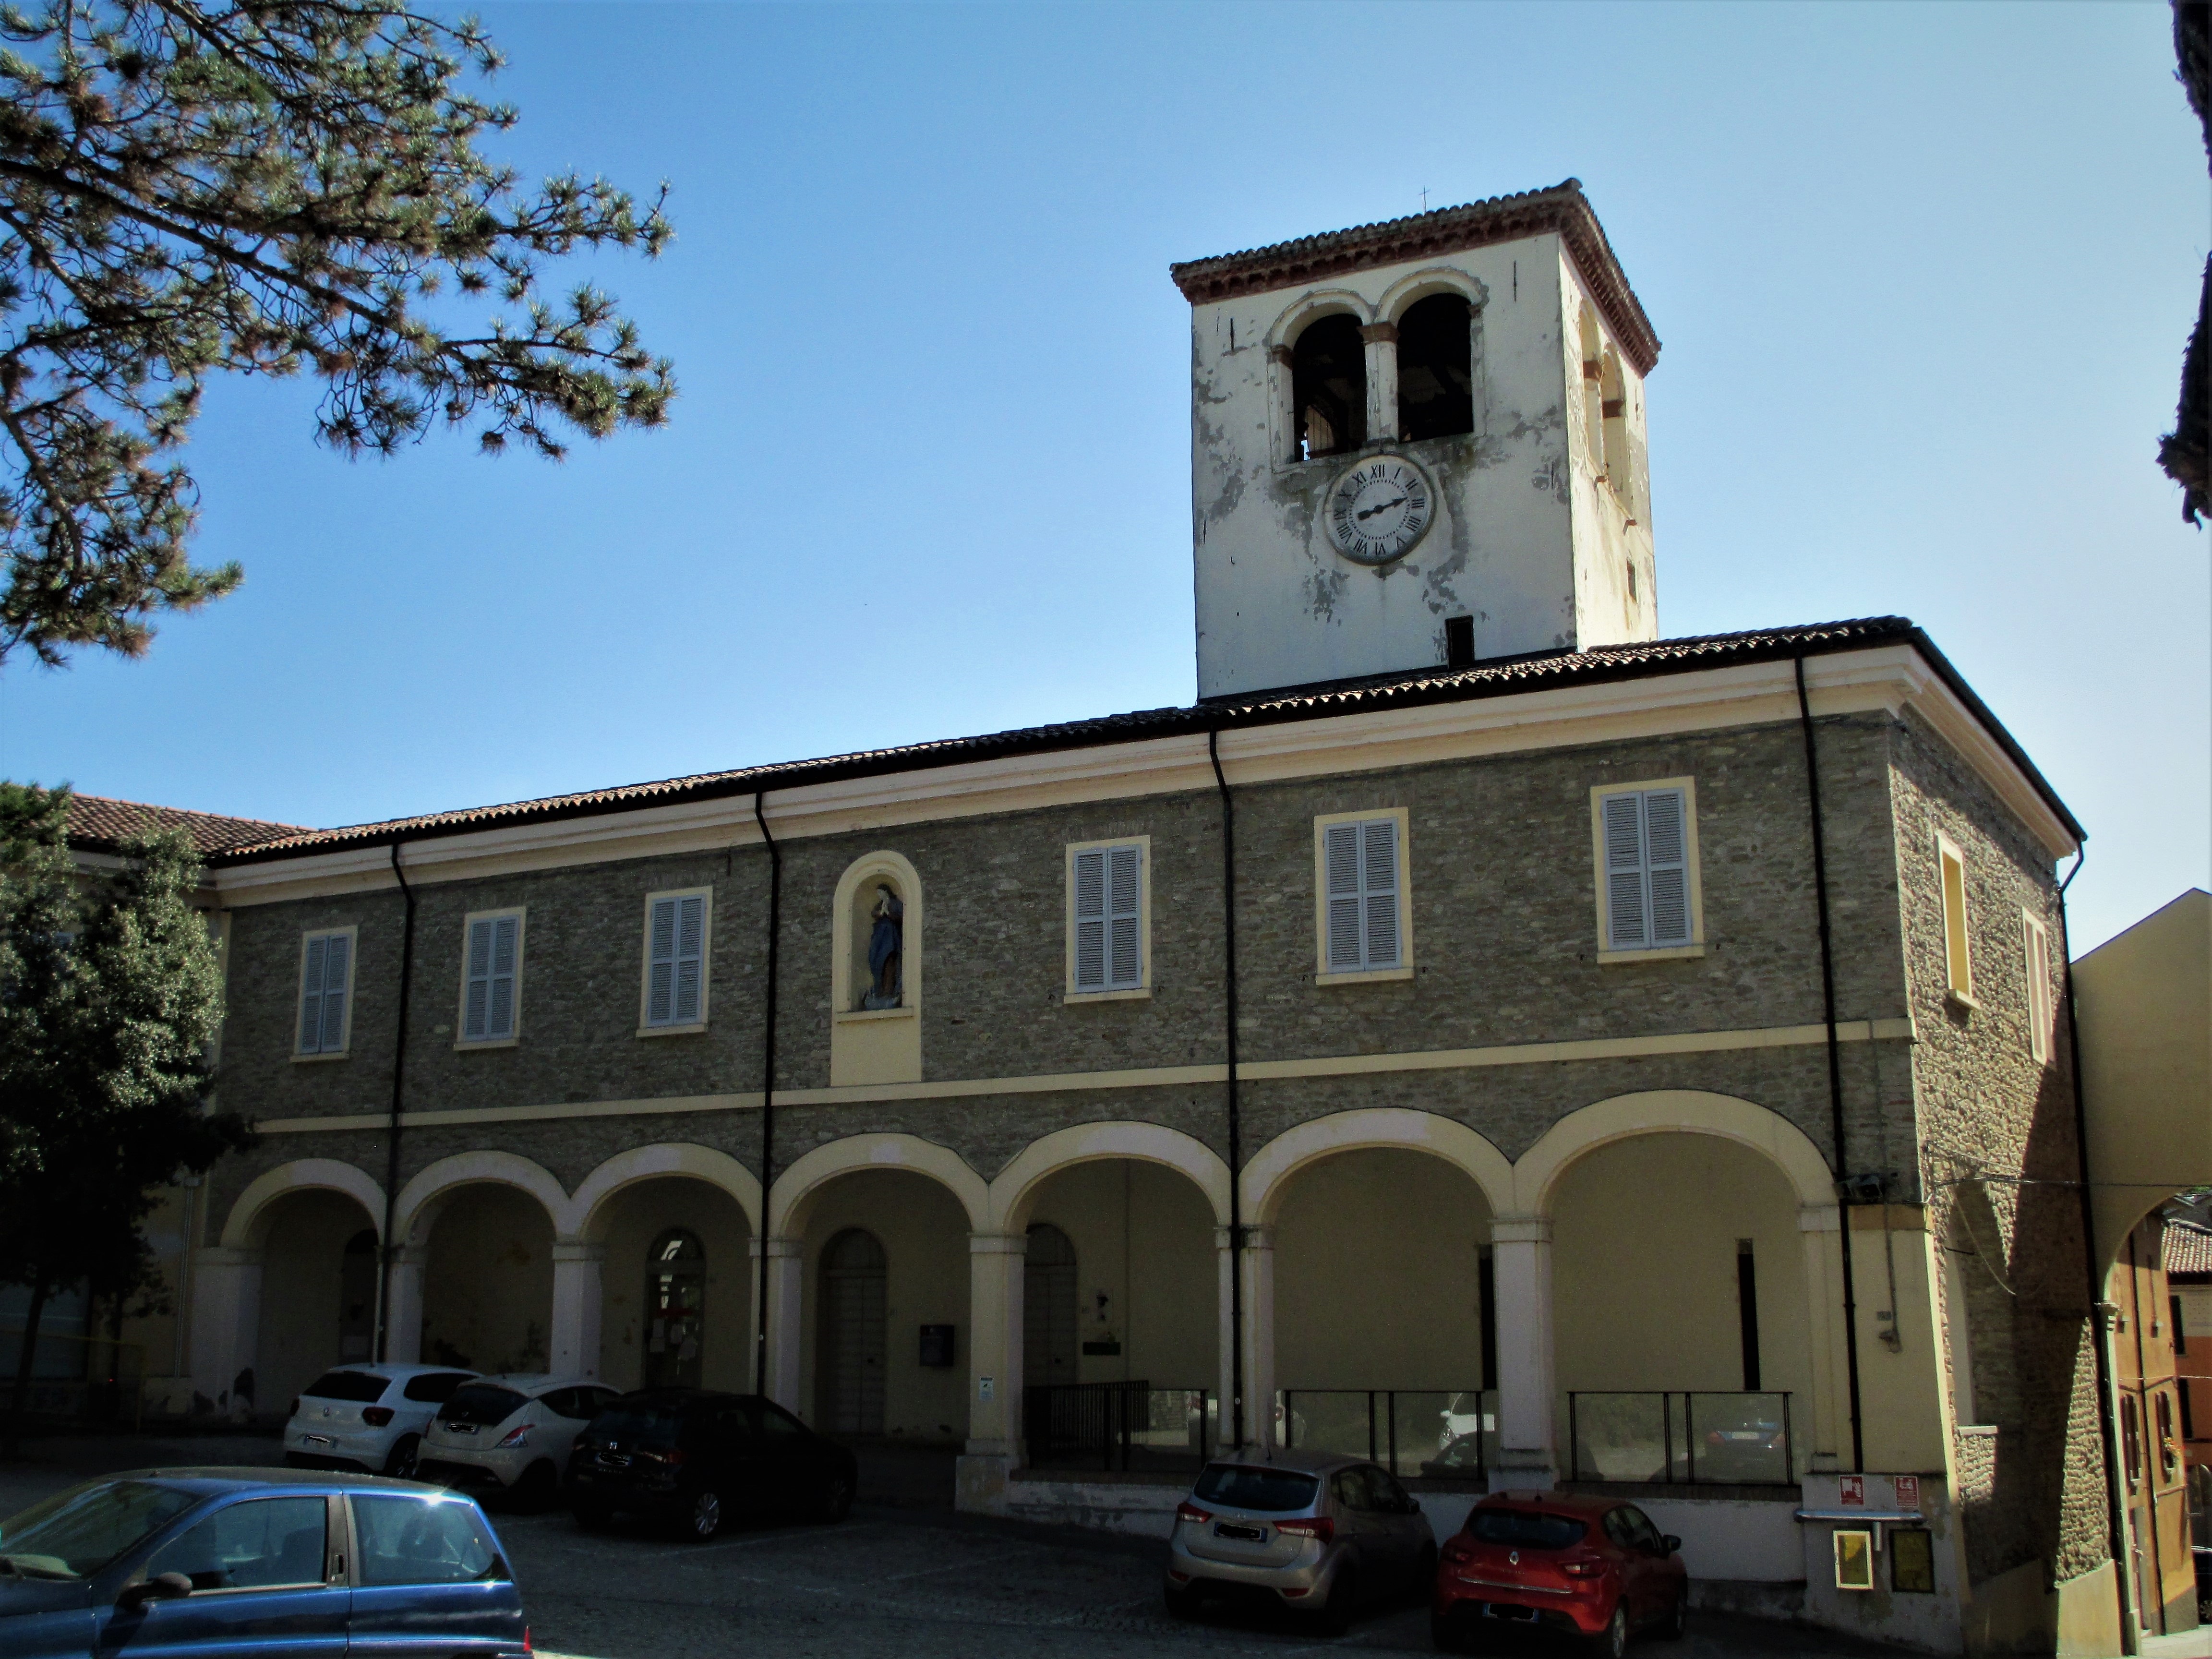
<instances>
[{"instance_id":1,"label":"leafy green tree at left edge, in front of the building","mask_svg":"<svg viewBox=\"0 0 2212 1659\"><path fill-rule=\"evenodd\" d=\"M0 783L0 1283L31 1292L9 1444L55 1290L142 1305L159 1274L139 1223L159 1188L252 1135L210 1113L223 1013L199 858L177 832L124 845L97 885L69 856L69 790Z\"/></svg>"}]
</instances>

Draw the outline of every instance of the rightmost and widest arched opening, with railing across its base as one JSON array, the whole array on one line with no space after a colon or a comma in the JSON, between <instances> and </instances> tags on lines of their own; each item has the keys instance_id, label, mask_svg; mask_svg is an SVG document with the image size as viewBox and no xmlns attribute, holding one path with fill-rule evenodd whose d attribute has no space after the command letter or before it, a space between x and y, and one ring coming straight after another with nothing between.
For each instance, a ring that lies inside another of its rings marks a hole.
<instances>
[{"instance_id":1,"label":"rightmost and widest arched opening, with railing across its base","mask_svg":"<svg viewBox=\"0 0 2212 1659\"><path fill-rule=\"evenodd\" d=\"M1803 1475L1812 1318L1790 1177L1721 1135L1630 1135L1559 1172L1551 1217L1568 1473Z\"/></svg>"}]
</instances>

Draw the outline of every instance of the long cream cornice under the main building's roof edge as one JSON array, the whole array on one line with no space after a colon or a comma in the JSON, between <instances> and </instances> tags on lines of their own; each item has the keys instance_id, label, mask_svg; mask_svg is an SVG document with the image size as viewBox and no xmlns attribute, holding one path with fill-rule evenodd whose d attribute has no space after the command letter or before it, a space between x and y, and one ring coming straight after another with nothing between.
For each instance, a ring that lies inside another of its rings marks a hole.
<instances>
[{"instance_id":1,"label":"long cream cornice under the main building's roof edge","mask_svg":"<svg viewBox=\"0 0 2212 1659\"><path fill-rule=\"evenodd\" d=\"M1898 714L1916 708L2053 858L2075 852L2066 825L2028 776L1909 644L1807 657L1805 681L1816 714ZM1796 719L1796 712L1794 664L1783 659L1230 730L1221 734L1221 763L1232 783L1283 783L1763 726ZM776 838L785 841L1208 787L1212 768L1206 737L1192 732L770 790L768 818ZM721 852L759 841L752 796L734 794L661 807L611 807L551 823L458 830L407 841L400 858L409 880L447 883ZM392 889L392 852L376 843L228 865L215 872L215 883L226 905Z\"/></svg>"}]
</instances>

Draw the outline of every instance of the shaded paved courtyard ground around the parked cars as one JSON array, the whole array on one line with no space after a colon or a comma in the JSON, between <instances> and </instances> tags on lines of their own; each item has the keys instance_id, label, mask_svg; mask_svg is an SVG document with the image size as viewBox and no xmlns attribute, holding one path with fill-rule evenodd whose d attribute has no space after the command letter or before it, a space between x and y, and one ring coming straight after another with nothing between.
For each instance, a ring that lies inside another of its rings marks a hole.
<instances>
[{"instance_id":1,"label":"shaded paved courtyard ground around the parked cars","mask_svg":"<svg viewBox=\"0 0 2212 1659\"><path fill-rule=\"evenodd\" d=\"M0 1515L75 1480L146 1464L276 1462L272 1438L38 1440L0 1464ZM577 1659L1175 1659L1329 1648L1427 1652L1427 1613L1378 1608L1347 1637L1283 1624L1168 1619L1159 1544L911 1506L911 1471L863 1475L843 1526L763 1526L714 1544L617 1528L577 1531L566 1513L493 1515L522 1582L542 1655ZM1524 1652L1566 1652L1559 1646ZM1701 1619L1688 1641L1639 1644L1650 1659L1874 1652L1743 1619Z\"/></svg>"}]
</instances>

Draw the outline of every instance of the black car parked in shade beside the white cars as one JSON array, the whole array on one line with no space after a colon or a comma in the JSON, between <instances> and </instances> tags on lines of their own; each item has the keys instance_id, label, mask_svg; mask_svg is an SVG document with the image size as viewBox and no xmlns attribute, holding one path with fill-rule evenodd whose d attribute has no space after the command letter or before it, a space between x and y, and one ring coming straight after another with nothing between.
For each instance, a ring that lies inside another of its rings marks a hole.
<instances>
[{"instance_id":1,"label":"black car parked in shade beside the white cars","mask_svg":"<svg viewBox=\"0 0 2212 1659\"><path fill-rule=\"evenodd\" d=\"M562 1480L584 1526L617 1511L714 1537L743 1515L845 1520L854 1455L759 1394L644 1389L591 1420Z\"/></svg>"}]
</instances>

